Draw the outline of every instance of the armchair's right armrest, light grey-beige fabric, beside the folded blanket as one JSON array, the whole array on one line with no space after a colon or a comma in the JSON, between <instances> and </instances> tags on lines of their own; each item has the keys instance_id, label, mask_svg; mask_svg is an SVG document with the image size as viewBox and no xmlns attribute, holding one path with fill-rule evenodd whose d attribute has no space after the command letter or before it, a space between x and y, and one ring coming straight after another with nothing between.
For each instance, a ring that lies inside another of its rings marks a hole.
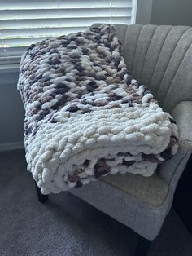
<instances>
[{"instance_id":1,"label":"armchair's right armrest, light grey-beige fabric, beside the folded blanket","mask_svg":"<svg viewBox=\"0 0 192 256\"><path fill-rule=\"evenodd\" d=\"M159 176L166 180L175 191L185 165L192 152L192 101L183 101L172 110L177 122L180 139L178 152L172 159L165 161L159 168Z\"/></svg>"}]
</instances>

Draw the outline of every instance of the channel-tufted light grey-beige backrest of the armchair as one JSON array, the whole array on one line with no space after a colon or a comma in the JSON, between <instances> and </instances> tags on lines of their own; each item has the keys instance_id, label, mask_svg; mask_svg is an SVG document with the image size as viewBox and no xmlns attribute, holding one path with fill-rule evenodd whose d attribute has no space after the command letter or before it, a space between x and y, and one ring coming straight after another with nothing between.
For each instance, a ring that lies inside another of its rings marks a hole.
<instances>
[{"instance_id":1,"label":"channel-tufted light grey-beige backrest of the armchair","mask_svg":"<svg viewBox=\"0 0 192 256\"><path fill-rule=\"evenodd\" d=\"M129 73L171 112L192 100L192 28L115 24Z\"/></svg>"}]
</instances>

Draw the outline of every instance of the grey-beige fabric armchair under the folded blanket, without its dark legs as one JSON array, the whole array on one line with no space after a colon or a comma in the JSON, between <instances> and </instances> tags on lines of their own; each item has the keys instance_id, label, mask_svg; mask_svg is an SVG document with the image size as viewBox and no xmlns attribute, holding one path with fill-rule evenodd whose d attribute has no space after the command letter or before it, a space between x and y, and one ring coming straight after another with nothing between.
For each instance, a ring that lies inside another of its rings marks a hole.
<instances>
[{"instance_id":1,"label":"grey-beige fabric armchair under the folded blanket, without its dark legs","mask_svg":"<svg viewBox=\"0 0 192 256\"><path fill-rule=\"evenodd\" d=\"M150 178L118 174L70 192L153 240L171 208L178 179L192 152L192 28L115 27L129 73L149 86L159 105L177 121L179 150Z\"/></svg>"}]
</instances>

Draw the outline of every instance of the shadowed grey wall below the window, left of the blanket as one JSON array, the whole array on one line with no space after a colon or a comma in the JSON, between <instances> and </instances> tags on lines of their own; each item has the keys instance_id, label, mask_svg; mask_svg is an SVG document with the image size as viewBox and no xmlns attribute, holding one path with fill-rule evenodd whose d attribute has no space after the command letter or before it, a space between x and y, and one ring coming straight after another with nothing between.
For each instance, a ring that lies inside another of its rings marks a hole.
<instances>
[{"instance_id":1,"label":"shadowed grey wall below the window, left of the blanket","mask_svg":"<svg viewBox=\"0 0 192 256\"><path fill-rule=\"evenodd\" d=\"M18 143L24 138L24 107L17 90L19 73L1 73L0 80L0 146ZM0 147L1 149L1 147Z\"/></svg>"}]
</instances>

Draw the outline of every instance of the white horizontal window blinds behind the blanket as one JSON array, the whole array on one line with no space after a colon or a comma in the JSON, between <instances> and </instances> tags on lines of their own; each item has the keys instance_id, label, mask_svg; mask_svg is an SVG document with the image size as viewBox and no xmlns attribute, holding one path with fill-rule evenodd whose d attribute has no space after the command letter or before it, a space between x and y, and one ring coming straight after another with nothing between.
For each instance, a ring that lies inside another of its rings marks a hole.
<instances>
[{"instance_id":1,"label":"white horizontal window blinds behind the blanket","mask_svg":"<svg viewBox=\"0 0 192 256\"><path fill-rule=\"evenodd\" d=\"M43 38L94 23L134 24L137 0L0 0L0 63Z\"/></svg>"}]
</instances>

